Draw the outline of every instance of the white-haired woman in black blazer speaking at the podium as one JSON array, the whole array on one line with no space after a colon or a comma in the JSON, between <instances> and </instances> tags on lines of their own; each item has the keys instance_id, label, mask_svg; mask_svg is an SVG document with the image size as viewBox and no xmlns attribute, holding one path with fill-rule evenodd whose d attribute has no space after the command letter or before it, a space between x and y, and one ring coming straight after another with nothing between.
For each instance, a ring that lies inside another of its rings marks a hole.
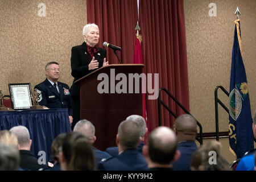
<instances>
[{"instance_id":1,"label":"white-haired woman in black blazer speaking at the podium","mask_svg":"<svg viewBox=\"0 0 256 182\"><path fill-rule=\"evenodd\" d=\"M98 68L109 65L106 61L106 49L97 47L100 31L96 24L86 24L82 30L84 43L71 49L71 75L74 77L71 87L73 106L72 129L80 119L80 86L74 84L79 78Z\"/></svg>"}]
</instances>

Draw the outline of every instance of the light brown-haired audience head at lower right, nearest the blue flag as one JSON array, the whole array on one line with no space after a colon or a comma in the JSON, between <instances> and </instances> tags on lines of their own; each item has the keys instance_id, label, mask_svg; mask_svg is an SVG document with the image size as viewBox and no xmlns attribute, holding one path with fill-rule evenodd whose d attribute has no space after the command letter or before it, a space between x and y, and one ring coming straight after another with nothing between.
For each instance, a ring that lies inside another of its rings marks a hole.
<instances>
[{"instance_id":1,"label":"light brown-haired audience head at lower right, nearest the blue flag","mask_svg":"<svg viewBox=\"0 0 256 182\"><path fill-rule=\"evenodd\" d=\"M203 144L192 155L193 171L230 171L229 163L220 155L220 142L214 140Z\"/></svg>"}]
</instances>

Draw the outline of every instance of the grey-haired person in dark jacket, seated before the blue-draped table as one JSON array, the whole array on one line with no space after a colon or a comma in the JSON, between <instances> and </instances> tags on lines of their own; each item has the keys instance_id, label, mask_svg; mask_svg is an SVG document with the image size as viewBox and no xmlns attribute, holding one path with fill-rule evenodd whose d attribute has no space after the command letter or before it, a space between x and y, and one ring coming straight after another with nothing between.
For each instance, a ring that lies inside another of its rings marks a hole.
<instances>
[{"instance_id":1,"label":"grey-haired person in dark jacket, seated before the blue-draped table","mask_svg":"<svg viewBox=\"0 0 256 182\"><path fill-rule=\"evenodd\" d=\"M14 126L10 131L18 138L20 168L32 171L47 168L47 165L39 164L38 159L30 151L32 140L30 139L28 129L24 126Z\"/></svg>"}]
</instances>

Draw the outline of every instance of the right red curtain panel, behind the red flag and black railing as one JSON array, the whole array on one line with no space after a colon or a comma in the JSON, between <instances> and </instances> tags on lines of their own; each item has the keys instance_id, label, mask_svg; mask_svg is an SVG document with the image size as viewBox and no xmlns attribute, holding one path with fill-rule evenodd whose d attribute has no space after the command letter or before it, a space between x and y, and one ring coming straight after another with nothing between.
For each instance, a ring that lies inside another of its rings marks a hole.
<instances>
[{"instance_id":1,"label":"right red curtain panel, behind the red flag and black railing","mask_svg":"<svg viewBox=\"0 0 256 182\"><path fill-rule=\"evenodd\" d=\"M146 73L159 73L159 88L166 88L189 111L187 48L183 0L140 1L143 63ZM167 94L162 100L177 115L184 112ZM158 126L158 103L147 100L150 130ZM174 124L162 106L162 125Z\"/></svg>"}]
</instances>

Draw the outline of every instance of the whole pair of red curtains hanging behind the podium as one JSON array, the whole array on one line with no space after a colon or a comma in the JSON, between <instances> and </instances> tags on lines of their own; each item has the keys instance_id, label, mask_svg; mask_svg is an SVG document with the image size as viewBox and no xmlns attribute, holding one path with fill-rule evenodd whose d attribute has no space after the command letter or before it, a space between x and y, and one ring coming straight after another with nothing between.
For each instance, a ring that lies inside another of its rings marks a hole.
<instances>
[{"instance_id":1,"label":"whole pair of red curtains hanging behind the podium","mask_svg":"<svg viewBox=\"0 0 256 182\"><path fill-rule=\"evenodd\" d=\"M88 23L100 27L100 44L106 41L122 47L123 63L133 63L137 0L87 0L87 14ZM158 73L159 88L169 90L189 110L183 0L140 1L139 26L145 73L152 73L152 80ZM110 64L118 63L113 51L108 51L108 57ZM167 94L162 100L177 115L184 113ZM146 106L151 131L158 126L158 102L146 97ZM174 117L162 107L162 125L172 127L173 123Z\"/></svg>"}]
</instances>

